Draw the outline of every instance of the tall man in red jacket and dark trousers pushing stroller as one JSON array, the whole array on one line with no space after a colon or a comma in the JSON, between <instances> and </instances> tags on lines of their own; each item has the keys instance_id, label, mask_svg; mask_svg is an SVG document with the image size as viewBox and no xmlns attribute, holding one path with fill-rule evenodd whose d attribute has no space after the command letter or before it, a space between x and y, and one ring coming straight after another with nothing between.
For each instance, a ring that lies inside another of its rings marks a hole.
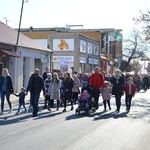
<instances>
[{"instance_id":1,"label":"tall man in red jacket and dark trousers pushing stroller","mask_svg":"<svg viewBox=\"0 0 150 150\"><path fill-rule=\"evenodd\" d=\"M100 90L104 84L104 76L100 73L98 66L95 67L95 72L90 76L89 84L94 88L94 108L92 111L95 112L99 108Z\"/></svg>"}]
</instances>

